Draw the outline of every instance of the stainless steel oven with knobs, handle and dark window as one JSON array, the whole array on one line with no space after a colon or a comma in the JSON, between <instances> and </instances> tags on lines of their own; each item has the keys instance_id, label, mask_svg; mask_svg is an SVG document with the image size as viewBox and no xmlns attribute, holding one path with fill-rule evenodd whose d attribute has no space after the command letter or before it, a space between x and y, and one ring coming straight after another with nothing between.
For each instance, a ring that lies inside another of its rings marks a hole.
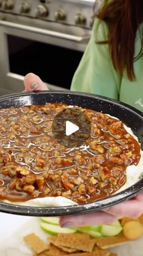
<instances>
[{"instance_id":1,"label":"stainless steel oven with knobs, handle and dark window","mask_svg":"<svg viewBox=\"0 0 143 256\"><path fill-rule=\"evenodd\" d=\"M69 89L91 36L94 0L0 0L0 94L23 90L25 74Z\"/></svg>"}]
</instances>

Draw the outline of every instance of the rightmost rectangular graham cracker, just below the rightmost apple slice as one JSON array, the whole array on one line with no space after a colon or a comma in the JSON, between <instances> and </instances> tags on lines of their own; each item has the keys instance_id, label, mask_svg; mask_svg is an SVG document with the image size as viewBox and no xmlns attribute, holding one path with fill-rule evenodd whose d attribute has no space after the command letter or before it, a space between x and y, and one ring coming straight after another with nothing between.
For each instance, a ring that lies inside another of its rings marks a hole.
<instances>
[{"instance_id":1,"label":"rightmost rectangular graham cracker, just below the rightmost apple slice","mask_svg":"<svg viewBox=\"0 0 143 256\"><path fill-rule=\"evenodd\" d=\"M115 246L120 246L122 244L128 243L127 238L124 235L120 234L118 236L108 236L103 238L95 238L95 244L101 249L107 249Z\"/></svg>"}]
</instances>

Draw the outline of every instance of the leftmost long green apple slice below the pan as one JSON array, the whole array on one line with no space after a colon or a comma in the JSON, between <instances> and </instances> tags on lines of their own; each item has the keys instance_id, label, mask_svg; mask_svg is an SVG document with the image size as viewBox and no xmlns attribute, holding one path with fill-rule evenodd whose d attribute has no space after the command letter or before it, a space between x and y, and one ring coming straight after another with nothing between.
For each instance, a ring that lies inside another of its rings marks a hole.
<instances>
[{"instance_id":1,"label":"leftmost long green apple slice below the pan","mask_svg":"<svg viewBox=\"0 0 143 256\"><path fill-rule=\"evenodd\" d=\"M44 221L41 221L40 223L41 228L49 233L50 235L57 235L58 233L76 233L76 229L73 228L65 228L65 227L59 227L55 224L49 224Z\"/></svg>"}]
</instances>

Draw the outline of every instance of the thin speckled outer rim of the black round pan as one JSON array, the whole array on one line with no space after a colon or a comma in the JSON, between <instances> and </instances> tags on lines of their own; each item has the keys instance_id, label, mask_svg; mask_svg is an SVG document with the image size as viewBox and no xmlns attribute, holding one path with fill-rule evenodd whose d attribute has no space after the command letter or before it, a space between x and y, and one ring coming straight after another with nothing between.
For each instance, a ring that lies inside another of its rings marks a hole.
<instances>
[{"instance_id":1,"label":"thin speckled outer rim of the black round pan","mask_svg":"<svg viewBox=\"0 0 143 256\"><path fill-rule=\"evenodd\" d=\"M109 104L115 104L119 107L124 107L125 110L134 113L139 116L143 121L143 113L136 110L134 107L130 107L128 104L106 98L104 96L99 96L95 94L79 93L76 91L35 91L27 93L13 93L5 96L0 96L0 107L2 101L10 101L12 99L19 98L21 96L35 96L42 94L65 94L72 96L73 94L78 96L85 96L87 98L98 99L99 101L104 101ZM22 105L22 104L21 104ZM107 207L111 207L115 204L127 201L141 193L143 191L143 179L139 180L135 185L127 188L120 193L114 194L110 197L105 197L104 199L99 199L95 202L81 205L71 205L67 207L28 207L16 204L8 204L5 202L0 202L0 212L11 213L14 215L25 215L25 216L68 216L68 215L81 215L85 213L96 212Z\"/></svg>"}]
</instances>

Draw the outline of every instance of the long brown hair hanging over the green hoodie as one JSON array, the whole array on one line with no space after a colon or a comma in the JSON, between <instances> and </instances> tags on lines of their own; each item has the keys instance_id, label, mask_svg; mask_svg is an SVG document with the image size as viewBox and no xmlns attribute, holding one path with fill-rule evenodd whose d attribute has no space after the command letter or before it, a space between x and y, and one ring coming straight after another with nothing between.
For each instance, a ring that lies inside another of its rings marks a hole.
<instances>
[{"instance_id":1,"label":"long brown hair hanging over the green hoodie","mask_svg":"<svg viewBox=\"0 0 143 256\"><path fill-rule=\"evenodd\" d=\"M108 24L109 34L107 41L110 47L113 66L119 74L127 70L128 79L135 79L133 62L142 55L142 47L135 56L136 32L143 21L143 0L104 0L105 5L96 13L99 20ZM143 33L139 30L143 43Z\"/></svg>"}]
</instances>

